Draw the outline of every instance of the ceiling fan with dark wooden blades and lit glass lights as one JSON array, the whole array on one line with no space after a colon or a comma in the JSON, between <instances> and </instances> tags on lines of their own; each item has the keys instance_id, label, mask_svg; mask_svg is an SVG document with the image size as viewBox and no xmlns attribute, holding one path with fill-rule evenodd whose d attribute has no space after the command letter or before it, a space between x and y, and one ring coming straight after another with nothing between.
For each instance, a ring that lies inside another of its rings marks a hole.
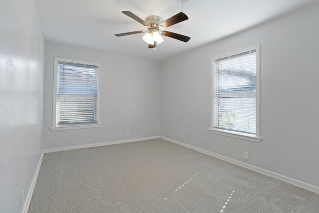
<instances>
[{"instance_id":1,"label":"ceiling fan with dark wooden blades and lit glass lights","mask_svg":"<svg viewBox=\"0 0 319 213\"><path fill-rule=\"evenodd\" d=\"M133 18L134 20L140 22L144 26L148 28L148 30L140 30L140 31L133 31L133 32L125 32L115 34L115 36L124 36L124 35L132 35L137 33L144 33L146 34L143 36L143 40L149 44L149 48L153 48L155 50L156 45L163 42L163 38L160 35L168 36L171 38L175 38L180 41L187 42L189 41L190 37L177 34L174 32L169 31L161 31L161 29L169 27L173 24L179 23L181 21L187 20L188 17L185 13L179 12L176 15L164 20L157 15L150 15L145 18L145 21L130 11L122 11L122 13L126 14L127 16Z\"/></svg>"}]
</instances>

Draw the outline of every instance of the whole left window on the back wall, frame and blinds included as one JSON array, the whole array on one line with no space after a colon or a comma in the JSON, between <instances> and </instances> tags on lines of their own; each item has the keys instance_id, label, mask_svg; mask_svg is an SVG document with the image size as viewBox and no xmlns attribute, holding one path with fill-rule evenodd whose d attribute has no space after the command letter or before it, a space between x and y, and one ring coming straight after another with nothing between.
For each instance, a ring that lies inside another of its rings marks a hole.
<instances>
[{"instance_id":1,"label":"whole left window on the back wall, frame and blinds included","mask_svg":"<svg viewBox=\"0 0 319 213\"><path fill-rule=\"evenodd\" d=\"M52 131L100 127L98 63L54 58Z\"/></svg>"}]
</instances>

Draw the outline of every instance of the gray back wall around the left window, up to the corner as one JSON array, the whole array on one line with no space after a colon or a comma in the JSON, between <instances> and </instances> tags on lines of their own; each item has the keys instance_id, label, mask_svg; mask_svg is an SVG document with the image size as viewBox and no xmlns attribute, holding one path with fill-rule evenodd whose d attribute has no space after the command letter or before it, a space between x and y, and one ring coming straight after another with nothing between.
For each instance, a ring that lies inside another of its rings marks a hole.
<instances>
[{"instance_id":1,"label":"gray back wall around the left window, up to the corner","mask_svg":"<svg viewBox=\"0 0 319 213\"><path fill-rule=\"evenodd\" d=\"M51 131L54 57L101 63L102 127ZM45 43L44 149L160 135L160 63ZM130 137L126 133L130 132Z\"/></svg>"}]
</instances>

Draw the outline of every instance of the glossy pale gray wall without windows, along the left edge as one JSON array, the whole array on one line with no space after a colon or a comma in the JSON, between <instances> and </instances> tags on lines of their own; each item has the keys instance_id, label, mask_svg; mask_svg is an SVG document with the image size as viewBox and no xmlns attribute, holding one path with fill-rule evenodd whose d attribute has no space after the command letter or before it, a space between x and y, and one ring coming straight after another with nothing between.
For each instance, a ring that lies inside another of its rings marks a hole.
<instances>
[{"instance_id":1,"label":"glossy pale gray wall without windows, along the left edge","mask_svg":"<svg viewBox=\"0 0 319 213\"><path fill-rule=\"evenodd\" d=\"M0 212L18 213L43 149L44 38L35 0L2 0L0 20Z\"/></svg>"}]
</instances>

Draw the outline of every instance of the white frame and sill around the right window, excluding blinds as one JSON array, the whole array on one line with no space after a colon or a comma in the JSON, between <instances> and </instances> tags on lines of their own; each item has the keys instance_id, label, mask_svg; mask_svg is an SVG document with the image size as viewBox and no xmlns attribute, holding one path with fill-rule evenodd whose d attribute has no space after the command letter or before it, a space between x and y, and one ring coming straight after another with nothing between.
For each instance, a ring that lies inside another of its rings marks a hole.
<instances>
[{"instance_id":1,"label":"white frame and sill around the right window, excluding blinds","mask_svg":"<svg viewBox=\"0 0 319 213\"><path fill-rule=\"evenodd\" d=\"M215 60L219 58L224 58L231 55L240 54L243 52L247 52L250 50L256 49L256 134L248 134L230 130L222 130L218 128L214 128L214 73L215 73ZM260 142L262 138L260 138L260 44L249 46L243 49L239 49L236 51L228 52L225 54L217 55L211 57L211 88L210 88L210 129L209 132L212 134L223 135L232 138L238 138L242 140L248 140L253 142Z\"/></svg>"}]
</instances>

